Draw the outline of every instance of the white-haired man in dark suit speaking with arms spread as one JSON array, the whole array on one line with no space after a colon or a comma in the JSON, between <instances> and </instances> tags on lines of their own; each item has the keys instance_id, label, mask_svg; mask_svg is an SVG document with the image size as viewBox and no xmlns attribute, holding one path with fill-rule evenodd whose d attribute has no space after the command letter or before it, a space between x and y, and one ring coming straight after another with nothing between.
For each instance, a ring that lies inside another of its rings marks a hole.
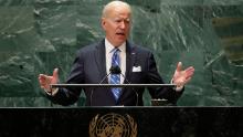
<instances>
[{"instance_id":1,"label":"white-haired man in dark suit speaking with arms spread","mask_svg":"<svg viewBox=\"0 0 243 137\"><path fill-rule=\"evenodd\" d=\"M105 39L82 48L74 60L66 84L163 84L158 74L152 53L141 46L130 43L127 39L131 27L131 8L123 1L112 1L103 9L101 24ZM109 74L110 67L118 67L120 74ZM194 68L182 70L179 62L171 83L177 87L148 87L151 98L165 98L176 104L183 92ZM109 74L109 75L107 75ZM125 76L124 76L125 75ZM60 87L57 68L53 75L39 75L41 87L47 98L55 104L71 105L78 98L82 91L86 95L87 106L142 106L145 87Z\"/></svg>"}]
</instances>

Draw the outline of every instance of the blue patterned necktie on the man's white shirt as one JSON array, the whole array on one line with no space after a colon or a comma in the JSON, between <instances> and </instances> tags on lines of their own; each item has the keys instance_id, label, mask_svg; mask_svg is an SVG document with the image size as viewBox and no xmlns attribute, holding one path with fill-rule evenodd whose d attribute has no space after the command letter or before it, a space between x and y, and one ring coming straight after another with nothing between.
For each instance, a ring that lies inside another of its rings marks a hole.
<instances>
[{"instance_id":1,"label":"blue patterned necktie on the man's white shirt","mask_svg":"<svg viewBox=\"0 0 243 137\"><path fill-rule=\"evenodd\" d=\"M112 66L119 66L120 60L119 60L119 49L114 49L113 57L112 57ZM120 84L120 74L110 74L110 84ZM118 101L122 88L120 87L113 87L112 88L113 95Z\"/></svg>"}]
</instances>

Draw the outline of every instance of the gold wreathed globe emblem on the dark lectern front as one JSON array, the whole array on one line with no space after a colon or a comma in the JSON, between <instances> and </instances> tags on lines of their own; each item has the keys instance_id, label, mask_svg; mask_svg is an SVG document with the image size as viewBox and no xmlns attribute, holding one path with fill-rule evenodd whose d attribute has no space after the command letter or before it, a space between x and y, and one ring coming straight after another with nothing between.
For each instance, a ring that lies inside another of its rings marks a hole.
<instances>
[{"instance_id":1,"label":"gold wreathed globe emblem on the dark lectern front","mask_svg":"<svg viewBox=\"0 0 243 137\"><path fill-rule=\"evenodd\" d=\"M137 124L126 114L96 115L89 123L91 137L137 137Z\"/></svg>"}]
</instances>

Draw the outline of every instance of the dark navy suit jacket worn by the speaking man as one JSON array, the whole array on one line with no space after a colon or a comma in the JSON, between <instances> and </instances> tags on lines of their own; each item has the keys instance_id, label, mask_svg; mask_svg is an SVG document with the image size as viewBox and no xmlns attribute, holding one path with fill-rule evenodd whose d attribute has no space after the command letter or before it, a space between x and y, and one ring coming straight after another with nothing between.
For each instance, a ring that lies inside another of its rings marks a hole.
<instances>
[{"instance_id":1,"label":"dark navy suit jacket worn by the speaking man","mask_svg":"<svg viewBox=\"0 0 243 137\"><path fill-rule=\"evenodd\" d=\"M107 75L106 73L105 40L99 43L82 48L74 61L72 71L66 81L68 84L98 84ZM140 66L141 72L133 72L134 66ZM128 84L162 84L154 55L145 48L126 44L126 74L124 83ZM106 78L104 84L108 84ZM145 87L124 87L118 102L115 101L110 88L104 87L72 87L60 88L54 96L47 96L53 103L61 105L74 104L82 92L86 95L87 106L136 106L142 104ZM151 98L166 98L176 104L182 92L176 92L169 87L148 88Z\"/></svg>"}]
</instances>

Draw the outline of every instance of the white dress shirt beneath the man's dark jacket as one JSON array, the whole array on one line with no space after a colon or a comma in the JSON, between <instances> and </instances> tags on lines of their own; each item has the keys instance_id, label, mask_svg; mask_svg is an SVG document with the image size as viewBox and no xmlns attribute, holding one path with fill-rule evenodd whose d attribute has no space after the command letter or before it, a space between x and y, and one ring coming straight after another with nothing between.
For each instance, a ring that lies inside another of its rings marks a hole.
<instances>
[{"instance_id":1,"label":"white dress shirt beneath the man's dark jacket","mask_svg":"<svg viewBox=\"0 0 243 137\"><path fill-rule=\"evenodd\" d=\"M107 40L105 39L105 54L106 54L106 73L109 73L109 68L112 66L112 57L114 53L115 46ZM126 42L124 42L122 45L118 46L120 50L119 52L119 59L120 59L120 71L122 74L125 75L126 73ZM120 74L120 84L124 83L124 76ZM110 80L110 75L108 76L108 82Z\"/></svg>"}]
</instances>

